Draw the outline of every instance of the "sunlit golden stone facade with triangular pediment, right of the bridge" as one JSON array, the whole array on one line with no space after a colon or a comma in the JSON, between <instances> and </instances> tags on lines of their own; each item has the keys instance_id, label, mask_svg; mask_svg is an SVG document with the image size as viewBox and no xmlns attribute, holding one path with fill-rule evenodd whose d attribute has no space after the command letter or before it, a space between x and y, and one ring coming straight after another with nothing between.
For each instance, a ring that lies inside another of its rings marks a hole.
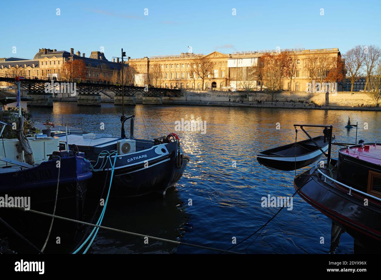
<instances>
[{"instance_id":1,"label":"sunlit golden stone facade with triangular pediment, right of the bridge","mask_svg":"<svg viewBox=\"0 0 381 280\"><path fill-rule=\"evenodd\" d=\"M307 83L311 82L309 73L306 68L307 58L316 56L317 54L328 54L333 58L340 55L338 48L330 49L313 49L313 50L287 50L297 61L296 75L290 84L289 79L282 80L281 88L291 91L305 91ZM246 67L245 61L251 61L252 64L260 63L261 56L264 53L274 53L277 51L251 51L239 52L233 54L224 54L218 51L207 54L206 57L215 62L212 72L208 79L204 81L204 90L210 88L212 90L235 90L239 88L237 82L237 73L242 67ZM154 64L159 64L162 75L157 82L157 86L168 88L195 88L201 90L201 78L193 80L190 75L192 71L192 61L196 58L193 53L181 53L179 55L155 56L128 59L126 63L136 70L135 84L143 83L153 84L150 81L150 71L154 69ZM138 78L138 76L139 78ZM320 80L320 79L319 79ZM255 85L260 85L259 81L254 81Z\"/></svg>"}]
</instances>

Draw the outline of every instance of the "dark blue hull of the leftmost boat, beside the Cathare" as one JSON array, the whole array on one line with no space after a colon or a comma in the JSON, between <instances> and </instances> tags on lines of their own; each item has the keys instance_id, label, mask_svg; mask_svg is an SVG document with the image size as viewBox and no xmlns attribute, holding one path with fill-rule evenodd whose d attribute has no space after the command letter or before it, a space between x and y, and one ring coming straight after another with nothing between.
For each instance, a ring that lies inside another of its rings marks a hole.
<instances>
[{"instance_id":1,"label":"dark blue hull of the leftmost boat, beside the Cathare","mask_svg":"<svg viewBox=\"0 0 381 280\"><path fill-rule=\"evenodd\" d=\"M88 180L92 176L90 162L80 157L61 158L60 170L55 214L82 220ZM30 209L53 213L58 181L56 159L34 168L2 173L1 176L1 197L29 197ZM0 209L0 216L27 238L46 238L51 223L50 217L7 207ZM78 224L73 222L55 219L52 234L58 233L54 236L60 236L65 242L65 238L75 236L78 228ZM38 240L36 242L38 244Z\"/></svg>"}]
</instances>

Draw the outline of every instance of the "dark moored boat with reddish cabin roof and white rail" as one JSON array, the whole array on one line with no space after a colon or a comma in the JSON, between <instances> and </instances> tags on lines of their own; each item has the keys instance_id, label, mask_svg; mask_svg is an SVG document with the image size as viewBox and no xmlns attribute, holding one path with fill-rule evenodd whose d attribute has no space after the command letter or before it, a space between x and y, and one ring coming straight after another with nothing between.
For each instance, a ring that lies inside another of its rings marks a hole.
<instances>
[{"instance_id":1,"label":"dark moored boat with reddish cabin roof and white rail","mask_svg":"<svg viewBox=\"0 0 381 280\"><path fill-rule=\"evenodd\" d=\"M338 154L296 176L295 190L363 246L380 246L381 144L356 144Z\"/></svg>"}]
</instances>

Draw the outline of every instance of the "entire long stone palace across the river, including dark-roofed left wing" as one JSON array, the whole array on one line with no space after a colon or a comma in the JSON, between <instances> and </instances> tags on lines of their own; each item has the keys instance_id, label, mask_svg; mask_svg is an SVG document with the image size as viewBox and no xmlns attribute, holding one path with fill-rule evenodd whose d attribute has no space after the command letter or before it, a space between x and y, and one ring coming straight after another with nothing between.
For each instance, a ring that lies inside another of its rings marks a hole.
<instances>
[{"instance_id":1,"label":"entire long stone palace across the river, including dark-roofed left wing","mask_svg":"<svg viewBox=\"0 0 381 280\"><path fill-rule=\"evenodd\" d=\"M224 54L214 51L205 55L205 58L213 62L213 69L208 78L204 80L203 89L211 90L235 90L240 89L239 73L245 67L256 66L260 63L261 56L265 53L279 53L282 50L272 51L247 51ZM307 58L319 54L328 54L333 58L340 55L338 48L315 49L315 50L285 50L296 60L296 72L290 83L289 79L282 81L282 88L291 91L305 91L307 83L311 81L307 70ZM144 58L126 58L126 69L130 66L134 85L151 84L165 88L195 88L202 89L201 78L193 78L191 69L197 54L181 53L170 56L154 56ZM24 75L26 78L33 77L56 77L60 78L62 64L69 60L82 59L87 67L86 79L93 81L111 80L115 70L121 69L119 59L108 61L104 53L92 51L90 57L85 53L74 49L70 52L57 51L42 48L35 54L33 59L0 58L0 75ZM152 78L155 70L156 78ZM157 74L159 73L159 74ZM254 86L259 86L259 81L254 81Z\"/></svg>"}]
</instances>

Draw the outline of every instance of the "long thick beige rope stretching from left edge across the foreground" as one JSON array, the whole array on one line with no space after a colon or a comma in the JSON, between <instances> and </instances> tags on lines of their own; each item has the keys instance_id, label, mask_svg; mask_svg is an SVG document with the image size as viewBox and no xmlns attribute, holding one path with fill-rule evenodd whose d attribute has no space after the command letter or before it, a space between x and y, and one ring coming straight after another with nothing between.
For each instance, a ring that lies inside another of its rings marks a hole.
<instances>
[{"instance_id":1,"label":"long thick beige rope stretching from left edge across the foreground","mask_svg":"<svg viewBox=\"0 0 381 280\"><path fill-rule=\"evenodd\" d=\"M111 230L111 231L114 231L114 232L119 232L119 233L123 233L123 234L133 235L133 236L137 236L137 237L143 237L143 238L148 237L148 238L151 238L151 239L157 240L157 241L172 243L172 244L176 244L176 245L190 246L190 247L200 248L200 249L206 249L206 250L210 250L210 251L218 251L218 252L221 252L221 253L243 254L243 253L235 252L235 251L228 251L228 250L223 250L223 249L218 249L218 248L213 248L213 247L207 247L207 246L202 246L202 245L197 245L197 244L192 244L192 243L184 243L184 242L174 241L174 240L170 240L170 239L165 239L165 238L160 238L160 237L154 237L154 236L150 236L150 235L138 234L136 232L129 232L129 231L126 231L126 230L121 230L121 229L114 229L112 227L99 226L99 225L96 225L96 224L91 224L89 222L77 221L77 220L74 220L74 219L69 219L69 218L65 218L65 217L61 217L61 216L57 216L57 215L53 215L53 214L48 214L48 213L40 212L40 211L37 211L37 210L32 210L32 209L26 210L24 207L15 206L15 205L12 205L12 204L7 203L7 202L0 201L0 204L2 206L4 206L6 204L6 205L8 205L9 208L17 209L17 210L24 211L24 212L31 212L31 213L40 214L40 215L43 215L43 216L48 216L48 217L51 217L51 218L61 219L61 220L64 220L64 221L69 221L69 222L76 222L76 223L83 224L83 225L86 225L86 226L98 227L99 229Z\"/></svg>"}]
</instances>

